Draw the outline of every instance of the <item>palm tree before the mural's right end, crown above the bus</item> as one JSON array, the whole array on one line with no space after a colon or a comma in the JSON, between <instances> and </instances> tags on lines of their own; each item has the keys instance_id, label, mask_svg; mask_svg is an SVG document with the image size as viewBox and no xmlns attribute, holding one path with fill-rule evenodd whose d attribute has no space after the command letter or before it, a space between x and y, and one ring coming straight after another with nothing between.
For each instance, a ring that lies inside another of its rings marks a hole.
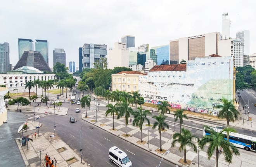
<instances>
[{"instance_id":1,"label":"palm tree before the mural's right end, crown above the bus","mask_svg":"<svg viewBox=\"0 0 256 167\"><path fill-rule=\"evenodd\" d=\"M225 98L221 99L223 105L217 105L217 108L222 108L220 110L218 117L227 119L227 127L229 128L229 122L235 122L235 119L238 119L240 113L235 109L233 105L233 100L228 101ZM227 131L227 140L229 141L229 131Z\"/></svg>"}]
</instances>

